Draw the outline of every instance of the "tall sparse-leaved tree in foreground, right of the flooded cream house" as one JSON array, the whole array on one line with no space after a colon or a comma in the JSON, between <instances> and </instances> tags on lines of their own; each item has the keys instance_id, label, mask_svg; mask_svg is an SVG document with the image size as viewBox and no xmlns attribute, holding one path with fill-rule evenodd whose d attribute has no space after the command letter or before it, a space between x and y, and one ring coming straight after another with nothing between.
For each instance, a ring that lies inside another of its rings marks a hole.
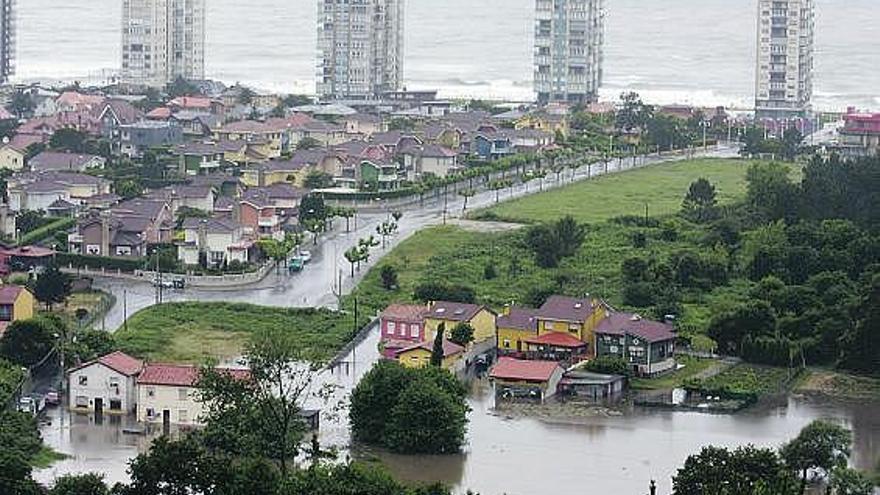
<instances>
[{"instance_id":1,"label":"tall sparse-leaved tree in foreground, right of the flooded cream house","mask_svg":"<svg viewBox=\"0 0 880 495\"><path fill-rule=\"evenodd\" d=\"M298 347L289 332L262 332L245 353L248 376L213 366L201 370L199 399L208 446L267 457L287 473L305 432L301 407L321 368Z\"/></svg>"}]
</instances>

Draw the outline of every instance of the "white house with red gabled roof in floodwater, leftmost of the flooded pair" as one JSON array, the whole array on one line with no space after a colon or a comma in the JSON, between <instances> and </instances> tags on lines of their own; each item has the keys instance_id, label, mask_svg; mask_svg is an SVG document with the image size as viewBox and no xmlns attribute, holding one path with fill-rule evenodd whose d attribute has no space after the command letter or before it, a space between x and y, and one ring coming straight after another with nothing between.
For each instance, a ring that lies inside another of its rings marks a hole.
<instances>
[{"instance_id":1,"label":"white house with red gabled roof in floodwater, leftmost of the flooded pair","mask_svg":"<svg viewBox=\"0 0 880 495\"><path fill-rule=\"evenodd\" d=\"M67 374L70 409L96 414L133 412L135 380L143 367L140 359L117 351L73 368Z\"/></svg>"}]
</instances>

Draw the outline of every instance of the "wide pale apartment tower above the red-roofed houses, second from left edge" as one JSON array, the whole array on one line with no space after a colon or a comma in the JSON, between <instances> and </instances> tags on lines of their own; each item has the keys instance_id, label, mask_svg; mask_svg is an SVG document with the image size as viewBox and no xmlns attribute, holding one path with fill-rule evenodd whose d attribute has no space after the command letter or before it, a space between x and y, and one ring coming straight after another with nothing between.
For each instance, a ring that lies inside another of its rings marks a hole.
<instances>
[{"instance_id":1,"label":"wide pale apartment tower above the red-roofed houses, second from left edge","mask_svg":"<svg viewBox=\"0 0 880 495\"><path fill-rule=\"evenodd\" d=\"M123 81L160 87L178 77L205 77L205 0L123 0Z\"/></svg>"}]
</instances>

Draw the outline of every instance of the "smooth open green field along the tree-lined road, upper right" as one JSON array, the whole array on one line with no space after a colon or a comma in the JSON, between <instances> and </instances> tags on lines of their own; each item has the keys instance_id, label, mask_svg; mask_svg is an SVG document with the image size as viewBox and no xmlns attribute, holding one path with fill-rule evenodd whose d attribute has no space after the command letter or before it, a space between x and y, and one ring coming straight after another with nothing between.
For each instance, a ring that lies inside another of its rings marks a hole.
<instances>
[{"instance_id":1,"label":"smooth open green field along the tree-lined road, upper right","mask_svg":"<svg viewBox=\"0 0 880 495\"><path fill-rule=\"evenodd\" d=\"M581 181L482 210L476 219L495 217L512 222L543 222L571 215L579 222L601 222L622 215L651 216L678 212L691 182L705 177L715 184L718 201L745 196L745 160L702 159L653 165Z\"/></svg>"}]
</instances>

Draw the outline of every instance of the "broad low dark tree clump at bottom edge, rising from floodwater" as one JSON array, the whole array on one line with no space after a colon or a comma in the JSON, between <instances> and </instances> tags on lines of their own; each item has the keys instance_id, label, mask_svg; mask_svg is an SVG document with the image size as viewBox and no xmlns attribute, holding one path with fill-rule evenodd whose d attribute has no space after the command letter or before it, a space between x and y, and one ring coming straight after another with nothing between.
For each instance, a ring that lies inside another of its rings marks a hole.
<instances>
[{"instance_id":1,"label":"broad low dark tree clump at bottom edge, rising from floodwater","mask_svg":"<svg viewBox=\"0 0 880 495\"><path fill-rule=\"evenodd\" d=\"M797 481L770 449L709 446L687 458L672 488L674 495L795 495Z\"/></svg>"}]
</instances>

